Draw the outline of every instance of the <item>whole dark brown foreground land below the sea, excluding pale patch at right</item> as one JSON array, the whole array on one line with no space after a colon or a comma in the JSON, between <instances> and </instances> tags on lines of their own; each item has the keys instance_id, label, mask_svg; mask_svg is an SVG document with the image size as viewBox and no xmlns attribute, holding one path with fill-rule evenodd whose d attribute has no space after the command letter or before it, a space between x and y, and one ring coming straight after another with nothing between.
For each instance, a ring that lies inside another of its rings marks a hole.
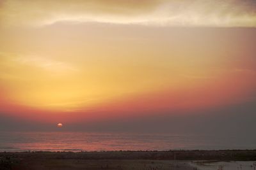
<instances>
[{"instance_id":1,"label":"whole dark brown foreground land below the sea, excluding pale patch at right","mask_svg":"<svg viewBox=\"0 0 256 170\"><path fill-rule=\"evenodd\" d=\"M186 170L191 169L189 162L198 160L256 161L256 150L1 152L0 169L170 169L173 166L172 169Z\"/></svg>"}]
</instances>

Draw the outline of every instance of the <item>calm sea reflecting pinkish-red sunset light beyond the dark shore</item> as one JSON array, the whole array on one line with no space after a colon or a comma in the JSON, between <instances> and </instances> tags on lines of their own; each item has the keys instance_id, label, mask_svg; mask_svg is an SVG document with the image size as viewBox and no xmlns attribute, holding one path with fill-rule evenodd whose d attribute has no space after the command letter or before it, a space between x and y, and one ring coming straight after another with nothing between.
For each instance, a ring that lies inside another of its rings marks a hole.
<instances>
[{"instance_id":1,"label":"calm sea reflecting pinkish-red sunset light beyond the dark shore","mask_svg":"<svg viewBox=\"0 0 256 170\"><path fill-rule=\"evenodd\" d=\"M192 134L0 132L0 152L255 149L256 139Z\"/></svg>"}]
</instances>

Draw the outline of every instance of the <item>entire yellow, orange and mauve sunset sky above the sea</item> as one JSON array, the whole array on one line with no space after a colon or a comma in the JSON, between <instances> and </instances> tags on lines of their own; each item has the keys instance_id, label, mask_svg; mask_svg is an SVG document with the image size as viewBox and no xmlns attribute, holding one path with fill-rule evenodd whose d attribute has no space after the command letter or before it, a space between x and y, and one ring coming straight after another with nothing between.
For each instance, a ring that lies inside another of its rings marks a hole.
<instances>
[{"instance_id":1,"label":"entire yellow, orange and mauve sunset sky above the sea","mask_svg":"<svg viewBox=\"0 0 256 170\"><path fill-rule=\"evenodd\" d=\"M255 27L253 0L0 0L0 130L252 132Z\"/></svg>"}]
</instances>

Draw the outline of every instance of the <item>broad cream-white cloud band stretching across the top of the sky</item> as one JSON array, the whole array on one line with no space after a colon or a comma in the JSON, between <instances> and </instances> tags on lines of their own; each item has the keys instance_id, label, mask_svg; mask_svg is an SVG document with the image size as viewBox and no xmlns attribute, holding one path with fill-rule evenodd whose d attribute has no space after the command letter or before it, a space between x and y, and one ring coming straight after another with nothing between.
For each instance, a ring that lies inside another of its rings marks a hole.
<instances>
[{"instance_id":1,"label":"broad cream-white cloud band stretching across the top of the sky","mask_svg":"<svg viewBox=\"0 0 256 170\"><path fill-rule=\"evenodd\" d=\"M255 27L253 0L18 1L0 6L2 25L47 25L60 21L192 27Z\"/></svg>"}]
</instances>

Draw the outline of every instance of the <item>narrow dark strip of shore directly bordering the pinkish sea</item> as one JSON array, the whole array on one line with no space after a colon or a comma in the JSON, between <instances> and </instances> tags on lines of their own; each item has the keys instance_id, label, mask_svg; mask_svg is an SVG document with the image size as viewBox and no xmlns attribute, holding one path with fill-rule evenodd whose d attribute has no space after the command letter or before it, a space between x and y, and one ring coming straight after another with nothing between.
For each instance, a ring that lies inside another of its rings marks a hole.
<instances>
[{"instance_id":1,"label":"narrow dark strip of shore directly bordering the pinkish sea","mask_svg":"<svg viewBox=\"0 0 256 170\"><path fill-rule=\"evenodd\" d=\"M95 152L0 152L0 157L38 159L145 159L145 160L256 160L256 150L170 150L170 151L95 151Z\"/></svg>"}]
</instances>

